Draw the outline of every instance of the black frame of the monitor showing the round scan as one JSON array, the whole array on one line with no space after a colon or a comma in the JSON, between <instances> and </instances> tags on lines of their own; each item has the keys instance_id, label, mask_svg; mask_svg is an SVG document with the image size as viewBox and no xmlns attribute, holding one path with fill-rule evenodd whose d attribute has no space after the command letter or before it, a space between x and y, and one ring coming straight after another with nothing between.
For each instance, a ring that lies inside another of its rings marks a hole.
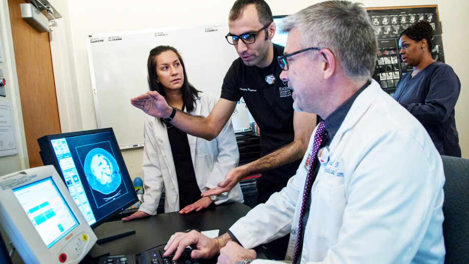
<instances>
[{"instance_id":1,"label":"black frame of the monitor showing the round scan","mask_svg":"<svg viewBox=\"0 0 469 264\"><path fill-rule=\"evenodd\" d=\"M43 137L40 137L37 139L39 143L39 149L40 149L40 156L42 159L42 163L44 165L53 165L55 167L55 170L57 170L57 173L59 174L60 178L62 179L63 183L65 183L65 177L62 174L62 170L60 169L60 165L57 160L57 156L55 155L55 152L53 151L53 146L52 146L52 139L57 139L57 138L66 138L66 137L74 137L74 136L81 136L81 135L90 135L90 134L97 134L97 133L103 133L103 132L110 132L112 135L112 138L115 142L115 147L117 148L116 155L118 156L117 158L120 158L123 164L123 168L121 169L122 177L128 177L130 184L132 184L132 178L130 177L129 171L127 170L127 166L125 164L125 160L122 156L122 152L120 151L119 145L117 143L116 135L114 134L114 130L112 128L101 128L101 129L92 129L92 130L83 130L83 131L76 131L76 132L68 132L68 133L60 133L60 134L53 134L53 135L46 135ZM49 153L45 153L45 151ZM67 186L67 184L66 184ZM131 186L133 187L133 185ZM68 188L68 187L67 187ZM106 215L105 217L101 218L100 220L96 219L96 222L91 224L91 228L95 229L102 223L105 223L108 219L111 219L114 217L114 215L118 214L119 212L123 211L124 209L128 208L132 204L136 203L138 201L137 193L134 191L134 188L131 188L131 194L133 196L132 201L127 202L126 204L120 206L116 211L113 213L110 213Z\"/></svg>"}]
</instances>

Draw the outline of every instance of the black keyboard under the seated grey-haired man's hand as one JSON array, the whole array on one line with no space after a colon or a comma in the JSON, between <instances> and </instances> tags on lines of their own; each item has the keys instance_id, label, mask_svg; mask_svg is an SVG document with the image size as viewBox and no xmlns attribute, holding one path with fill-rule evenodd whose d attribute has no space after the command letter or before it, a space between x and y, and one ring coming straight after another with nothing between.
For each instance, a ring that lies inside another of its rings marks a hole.
<instances>
[{"instance_id":1,"label":"black keyboard under the seated grey-haired man's hand","mask_svg":"<svg viewBox=\"0 0 469 264\"><path fill-rule=\"evenodd\" d=\"M149 249L140 253L142 264L215 264L217 263L217 257L212 259L198 259L191 258L190 253L192 249L185 248L178 260L173 260L173 254L163 257L164 246L161 245L156 248Z\"/></svg>"}]
</instances>

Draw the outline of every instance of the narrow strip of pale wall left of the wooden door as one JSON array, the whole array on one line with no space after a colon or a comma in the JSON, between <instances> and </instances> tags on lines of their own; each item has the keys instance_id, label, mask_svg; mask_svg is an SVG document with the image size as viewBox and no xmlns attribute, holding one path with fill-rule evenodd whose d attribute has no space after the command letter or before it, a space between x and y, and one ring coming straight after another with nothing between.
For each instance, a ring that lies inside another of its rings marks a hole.
<instances>
[{"instance_id":1,"label":"narrow strip of pale wall left of the wooden door","mask_svg":"<svg viewBox=\"0 0 469 264\"><path fill-rule=\"evenodd\" d=\"M18 78L16 77L16 63L13 50L13 38L11 36L8 0L0 0L0 41L2 41L5 59L5 62L0 62L0 69L2 69L3 77L7 82L5 85L6 97L0 97L0 102L9 102L13 105L14 129L19 151L19 154L16 155L0 157L0 176L2 176L29 167L23 114L19 101Z\"/></svg>"}]
</instances>

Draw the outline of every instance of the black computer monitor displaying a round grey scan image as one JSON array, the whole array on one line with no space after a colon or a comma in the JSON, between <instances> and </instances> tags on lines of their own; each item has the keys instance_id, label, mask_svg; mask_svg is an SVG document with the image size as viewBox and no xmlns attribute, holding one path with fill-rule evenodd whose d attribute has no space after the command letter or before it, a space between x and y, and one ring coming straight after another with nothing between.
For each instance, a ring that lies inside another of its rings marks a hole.
<instances>
[{"instance_id":1,"label":"black computer monitor displaying a round grey scan image","mask_svg":"<svg viewBox=\"0 0 469 264\"><path fill-rule=\"evenodd\" d=\"M137 202L112 128L37 139L45 165L54 165L92 228Z\"/></svg>"}]
</instances>

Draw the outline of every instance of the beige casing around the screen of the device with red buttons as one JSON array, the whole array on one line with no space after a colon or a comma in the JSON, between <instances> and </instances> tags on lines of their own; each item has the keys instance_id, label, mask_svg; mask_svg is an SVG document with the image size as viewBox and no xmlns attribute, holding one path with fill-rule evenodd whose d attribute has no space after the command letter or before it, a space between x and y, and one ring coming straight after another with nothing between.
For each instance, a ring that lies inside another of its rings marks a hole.
<instances>
[{"instance_id":1,"label":"beige casing around the screen of the device with red buttons","mask_svg":"<svg viewBox=\"0 0 469 264\"><path fill-rule=\"evenodd\" d=\"M50 248L39 235L13 191L15 188L34 184L47 178L51 178L54 182L57 193L62 196L70 213L78 221L77 226L70 229L67 235ZM65 254L68 263L78 263L97 241L96 235L60 178L52 165L34 167L0 177L0 181L7 182L4 188L0 189L0 223L25 263L53 263L57 262L62 254ZM78 239L80 248L76 247Z\"/></svg>"}]
</instances>

